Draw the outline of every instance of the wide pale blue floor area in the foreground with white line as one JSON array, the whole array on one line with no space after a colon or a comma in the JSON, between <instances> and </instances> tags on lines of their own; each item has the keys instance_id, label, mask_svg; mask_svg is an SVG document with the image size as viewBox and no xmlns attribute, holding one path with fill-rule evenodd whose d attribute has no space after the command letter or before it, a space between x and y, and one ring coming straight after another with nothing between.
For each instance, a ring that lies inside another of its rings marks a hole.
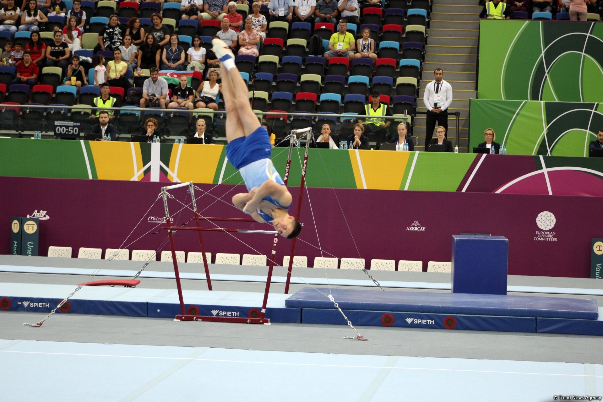
<instances>
[{"instance_id":1,"label":"wide pale blue floor area in the foreground with white line","mask_svg":"<svg viewBox=\"0 0 603 402\"><path fill-rule=\"evenodd\" d=\"M2 400L22 402L507 402L603 390L603 366L578 363L46 341L0 350L0 363Z\"/></svg>"}]
</instances>

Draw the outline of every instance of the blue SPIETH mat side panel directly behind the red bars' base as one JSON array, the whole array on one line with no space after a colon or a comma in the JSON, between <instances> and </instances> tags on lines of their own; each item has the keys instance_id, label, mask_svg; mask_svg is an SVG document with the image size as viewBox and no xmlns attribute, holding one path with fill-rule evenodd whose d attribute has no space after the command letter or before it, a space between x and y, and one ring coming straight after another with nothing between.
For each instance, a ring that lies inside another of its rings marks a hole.
<instances>
[{"instance_id":1,"label":"blue SPIETH mat side panel directly behind the red bars' base","mask_svg":"<svg viewBox=\"0 0 603 402\"><path fill-rule=\"evenodd\" d=\"M246 306L219 306L213 304L185 304L185 309L189 306L197 306L198 315L216 315L227 317L248 317L252 307ZM260 310L257 307L257 310ZM215 312L215 314L214 314ZM148 303L148 316L151 318L174 318L180 314L180 304L175 303ZM266 309L266 318L272 322L289 322L294 324L301 323L301 309L279 309L268 307Z\"/></svg>"}]
</instances>

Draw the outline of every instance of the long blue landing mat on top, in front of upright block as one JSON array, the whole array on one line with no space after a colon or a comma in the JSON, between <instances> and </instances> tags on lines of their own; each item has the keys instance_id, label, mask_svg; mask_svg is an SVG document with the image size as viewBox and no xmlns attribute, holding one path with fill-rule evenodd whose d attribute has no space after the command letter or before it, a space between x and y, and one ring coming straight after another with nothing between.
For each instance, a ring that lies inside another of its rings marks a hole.
<instances>
[{"instance_id":1,"label":"long blue landing mat on top, in front of upright block","mask_svg":"<svg viewBox=\"0 0 603 402\"><path fill-rule=\"evenodd\" d=\"M322 292L322 293L321 293ZM285 301L286 307L333 309L331 294L345 310L417 312L516 317L597 319L591 299L540 296L395 292L304 287Z\"/></svg>"}]
</instances>

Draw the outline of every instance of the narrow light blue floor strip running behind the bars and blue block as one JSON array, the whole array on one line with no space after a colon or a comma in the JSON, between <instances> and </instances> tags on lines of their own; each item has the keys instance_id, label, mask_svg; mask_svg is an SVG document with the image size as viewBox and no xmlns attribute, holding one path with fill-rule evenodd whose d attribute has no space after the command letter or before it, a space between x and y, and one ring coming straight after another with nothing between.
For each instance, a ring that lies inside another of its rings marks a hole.
<instances>
[{"instance_id":1,"label":"narrow light blue floor strip running behind the bars and blue block","mask_svg":"<svg viewBox=\"0 0 603 402\"><path fill-rule=\"evenodd\" d=\"M319 268L317 268L319 269ZM43 266L21 266L21 265L0 265L0 272L23 272L29 274L67 274L67 275L90 275L96 272L97 276L106 277L126 277L132 278L137 271L126 269L90 269L90 268L50 268ZM317 271L320 272L320 271ZM173 272L161 271L143 271L140 278L160 278L174 279ZM186 280L205 280L205 274L194 272L180 272L180 278ZM243 282L265 282L266 278L262 275L230 275L230 274L212 274L212 280L218 281L243 281ZM92 279L93 280L93 279ZM274 276L273 283L285 283L286 277ZM370 286L374 283L370 280L342 279L342 278L315 278L315 277L291 277L291 283L294 284L312 284L312 285L332 285L332 286ZM382 286L397 287L404 289L437 289L443 291L450 290L450 283L436 282L409 282L409 281L380 281ZM582 287L545 287L545 286L507 286L508 292L519 293L546 293L561 295L592 295L603 296L603 289L586 289Z\"/></svg>"}]
</instances>

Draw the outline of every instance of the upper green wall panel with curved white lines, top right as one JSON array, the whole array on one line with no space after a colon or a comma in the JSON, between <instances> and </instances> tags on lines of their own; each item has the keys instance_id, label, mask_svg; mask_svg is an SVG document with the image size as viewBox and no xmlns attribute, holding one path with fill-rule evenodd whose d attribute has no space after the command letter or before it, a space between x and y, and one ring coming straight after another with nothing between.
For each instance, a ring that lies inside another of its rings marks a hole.
<instances>
[{"instance_id":1,"label":"upper green wall panel with curved white lines, top right","mask_svg":"<svg viewBox=\"0 0 603 402\"><path fill-rule=\"evenodd\" d=\"M478 98L603 101L601 25L481 20Z\"/></svg>"}]
</instances>

